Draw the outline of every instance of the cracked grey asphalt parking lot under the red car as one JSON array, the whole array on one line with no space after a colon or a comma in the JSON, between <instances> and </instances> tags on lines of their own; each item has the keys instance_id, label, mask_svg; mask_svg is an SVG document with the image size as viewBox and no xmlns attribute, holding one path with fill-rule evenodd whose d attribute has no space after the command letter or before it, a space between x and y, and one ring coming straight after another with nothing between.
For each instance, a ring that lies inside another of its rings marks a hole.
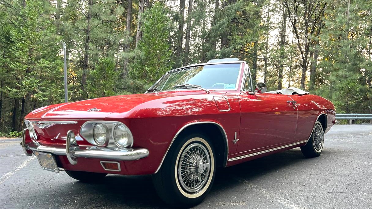
<instances>
[{"instance_id":1,"label":"cracked grey asphalt parking lot under the red car","mask_svg":"<svg viewBox=\"0 0 372 209\"><path fill-rule=\"evenodd\" d=\"M108 175L80 183L41 170L18 140L0 140L0 208L167 208L148 176ZM195 208L372 209L372 125L336 125L322 155L299 148L217 170L211 192Z\"/></svg>"}]
</instances>

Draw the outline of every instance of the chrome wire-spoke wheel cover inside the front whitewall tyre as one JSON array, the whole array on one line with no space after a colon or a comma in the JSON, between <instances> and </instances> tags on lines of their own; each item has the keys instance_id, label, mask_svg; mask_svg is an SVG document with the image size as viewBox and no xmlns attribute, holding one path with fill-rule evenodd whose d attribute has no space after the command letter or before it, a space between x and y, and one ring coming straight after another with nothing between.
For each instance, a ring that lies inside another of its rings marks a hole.
<instances>
[{"instance_id":1,"label":"chrome wire-spoke wheel cover inside the front whitewall tyre","mask_svg":"<svg viewBox=\"0 0 372 209\"><path fill-rule=\"evenodd\" d=\"M196 193L203 188L210 175L211 157L206 148L193 143L187 146L177 166L178 180L188 193Z\"/></svg>"}]
</instances>

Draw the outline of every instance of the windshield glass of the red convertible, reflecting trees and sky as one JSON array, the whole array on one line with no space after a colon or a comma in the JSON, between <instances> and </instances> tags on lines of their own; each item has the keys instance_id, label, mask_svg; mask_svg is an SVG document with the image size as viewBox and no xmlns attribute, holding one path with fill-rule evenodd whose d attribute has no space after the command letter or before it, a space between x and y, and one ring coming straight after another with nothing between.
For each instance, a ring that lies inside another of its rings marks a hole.
<instances>
[{"instance_id":1,"label":"windshield glass of the red convertible, reflecting trees and sky","mask_svg":"<svg viewBox=\"0 0 372 209\"><path fill-rule=\"evenodd\" d=\"M154 88L159 91L169 91L175 89L190 89L192 86L182 86L192 84L204 89L230 89L237 87L240 73L240 63L203 65L196 67L183 68L167 73L160 78Z\"/></svg>"}]
</instances>

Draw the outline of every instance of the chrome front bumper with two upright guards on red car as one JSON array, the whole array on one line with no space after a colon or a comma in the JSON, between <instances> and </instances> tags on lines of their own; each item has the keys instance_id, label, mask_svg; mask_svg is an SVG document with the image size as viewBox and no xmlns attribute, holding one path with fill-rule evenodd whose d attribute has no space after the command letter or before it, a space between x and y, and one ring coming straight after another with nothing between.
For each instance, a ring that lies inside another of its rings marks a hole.
<instances>
[{"instance_id":1,"label":"chrome front bumper with two upright guards on red car","mask_svg":"<svg viewBox=\"0 0 372 209\"><path fill-rule=\"evenodd\" d=\"M26 131L23 130L21 146L27 156L33 152L49 152L55 155L66 155L68 161L75 165L78 157L100 158L116 161L138 160L148 156L148 150L145 148L109 148L109 147L86 147L81 149L75 140L73 131L67 132L66 148L47 147L39 145L37 142L26 144ZM33 145L33 146L32 146Z\"/></svg>"}]
</instances>

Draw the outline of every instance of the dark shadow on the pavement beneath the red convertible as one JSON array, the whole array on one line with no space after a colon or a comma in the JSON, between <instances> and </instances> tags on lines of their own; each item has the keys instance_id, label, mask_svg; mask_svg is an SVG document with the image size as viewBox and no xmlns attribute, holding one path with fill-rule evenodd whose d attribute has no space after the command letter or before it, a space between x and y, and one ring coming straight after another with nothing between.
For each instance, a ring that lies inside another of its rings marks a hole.
<instances>
[{"instance_id":1,"label":"dark shadow on the pavement beneath the red convertible","mask_svg":"<svg viewBox=\"0 0 372 209\"><path fill-rule=\"evenodd\" d=\"M214 194L217 193L224 196L225 190L234 189L241 184L238 179L252 181L285 169L296 172L295 166L306 160L311 159L305 158L299 149L291 149L232 167L219 168L206 201L215 202ZM108 175L99 183L74 181L72 184L73 189L65 188L64 192L76 198L74 201L79 202L77 205L86 201L90 208L167 208L157 196L151 176ZM81 191L84 192L83 199L76 197L81 195Z\"/></svg>"}]
</instances>

